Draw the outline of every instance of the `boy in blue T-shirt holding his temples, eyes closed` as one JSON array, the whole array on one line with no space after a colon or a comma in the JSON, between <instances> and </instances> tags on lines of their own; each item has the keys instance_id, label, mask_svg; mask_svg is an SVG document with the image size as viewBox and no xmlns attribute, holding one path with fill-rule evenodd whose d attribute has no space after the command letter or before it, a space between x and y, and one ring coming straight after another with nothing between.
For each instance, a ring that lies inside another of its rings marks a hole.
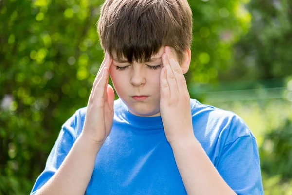
<instances>
[{"instance_id":1,"label":"boy in blue T-shirt holding his temples, eyes closed","mask_svg":"<svg viewBox=\"0 0 292 195\"><path fill-rule=\"evenodd\" d=\"M98 33L106 55L88 105L62 126L31 195L263 194L243 120L189 97L187 0L106 0Z\"/></svg>"}]
</instances>

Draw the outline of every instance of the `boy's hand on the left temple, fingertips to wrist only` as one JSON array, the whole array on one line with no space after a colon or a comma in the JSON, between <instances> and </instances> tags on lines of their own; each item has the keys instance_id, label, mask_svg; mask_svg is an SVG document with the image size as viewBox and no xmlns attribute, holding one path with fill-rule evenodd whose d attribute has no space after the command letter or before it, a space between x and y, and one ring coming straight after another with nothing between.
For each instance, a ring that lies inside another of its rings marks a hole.
<instances>
[{"instance_id":1,"label":"boy's hand on the left temple, fingertips to wrist only","mask_svg":"<svg viewBox=\"0 0 292 195\"><path fill-rule=\"evenodd\" d=\"M97 144L109 136L113 122L114 91L108 84L112 58L106 53L89 96L82 135Z\"/></svg>"}]
</instances>

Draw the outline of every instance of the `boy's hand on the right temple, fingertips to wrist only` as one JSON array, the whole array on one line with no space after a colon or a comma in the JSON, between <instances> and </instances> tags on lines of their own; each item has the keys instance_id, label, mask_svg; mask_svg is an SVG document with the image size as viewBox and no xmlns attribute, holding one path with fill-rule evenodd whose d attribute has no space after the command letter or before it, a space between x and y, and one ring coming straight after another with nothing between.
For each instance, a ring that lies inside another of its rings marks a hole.
<instances>
[{"instance_id":1,"label":"boy's hand on the right temple, fingertips to wrist only","mask_svg":"<svg viewBox=\"0 0 292 195\"><path fill-rule=\"evenodd\" d=\"M167 46L160 74L160 114L167 141L172 144L194 136L190 95L179 63Z\"/></svg>"}]
</instances>

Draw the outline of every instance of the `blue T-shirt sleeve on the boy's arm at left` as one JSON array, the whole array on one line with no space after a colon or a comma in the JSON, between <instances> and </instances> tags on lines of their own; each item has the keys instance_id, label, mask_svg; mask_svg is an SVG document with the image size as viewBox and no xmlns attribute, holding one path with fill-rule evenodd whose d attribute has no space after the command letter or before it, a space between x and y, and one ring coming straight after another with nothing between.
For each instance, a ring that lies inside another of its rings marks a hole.
<instances>
[{"instance_id":1,"label":"blue T-shirt sleeve on the boy's arm at left","mask_svg":"<svg viewBox=\"0 0 292 195\"><path fill-rule=\"evenodd\" d=\"M76 140L76 113L70 117L61 128L58 138L48 156L44 171L38 176L30 193L35 195L57 171Z\"/></svg>"}]
</instances>

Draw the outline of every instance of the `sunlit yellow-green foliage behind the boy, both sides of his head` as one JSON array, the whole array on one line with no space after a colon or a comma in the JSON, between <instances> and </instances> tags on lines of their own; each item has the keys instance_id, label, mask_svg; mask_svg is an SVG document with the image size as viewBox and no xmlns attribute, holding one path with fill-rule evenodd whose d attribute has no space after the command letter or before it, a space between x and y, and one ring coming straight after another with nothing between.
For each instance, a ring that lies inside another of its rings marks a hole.
<instances>
[{"instance_id":1,"label":"sunlit yellow-green foliage behind the boy, both sides of his head","mask_svg":"<svg viewBox=\"0 0 292 195\"><path fill-rule=\"evenodd\" d=\"M0 194L26 195L61 125L87 104L103 59L102 0L0 0ZM189 82L216 81L247 33L246 0L192 1Z\"/></svg>"}]
</instances>

